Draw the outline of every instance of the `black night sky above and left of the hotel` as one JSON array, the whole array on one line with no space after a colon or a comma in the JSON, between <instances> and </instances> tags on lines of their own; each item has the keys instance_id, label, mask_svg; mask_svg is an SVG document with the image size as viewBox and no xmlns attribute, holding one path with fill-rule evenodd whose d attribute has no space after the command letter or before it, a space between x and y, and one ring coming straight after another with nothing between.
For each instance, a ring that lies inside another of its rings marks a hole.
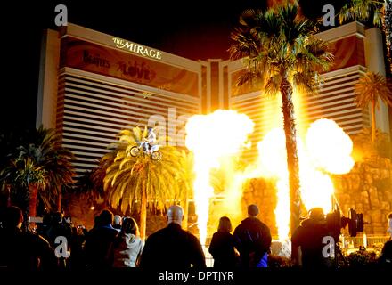
<instances>
[{"instance_id":1,"label":"black night sky above and left of the hotel","mask_svg":"<svg viewBox=\"0 0 392 285\"><path fill-rule=\"evenodd\" d=\"M322 15L323 4L344 0L302 0L304 13ZM230 32L246 8L265 0L199 1L12 1L1 9L2 101L0 132L34 127L41 33L55 28L54 7L66 4L69 22L148 45L192 60L227 59Z\"/></svg>"}]
</instances>

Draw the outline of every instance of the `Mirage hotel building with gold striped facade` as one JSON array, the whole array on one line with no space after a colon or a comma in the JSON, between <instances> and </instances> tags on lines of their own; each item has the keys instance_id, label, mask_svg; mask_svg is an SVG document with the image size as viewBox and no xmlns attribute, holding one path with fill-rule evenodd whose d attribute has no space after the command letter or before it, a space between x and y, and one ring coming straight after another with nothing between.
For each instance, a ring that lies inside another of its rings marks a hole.
<instances>
[{"instance_id":1,"label":"Mirage hotel building with gold striped facade","mask_svg":"<svg viewBox=\"0 0 392 285\"><path fill-rule=\"evenodd\" d=\"M323 74L321 94L306 96L306 120L334 119L347 134L369 126L356 108L354 84L367 70L385 74L378 28L352 22L317 35L334 47L335 63ZM252 142L268 121L268 98L237 88L242 61L189 59L74 24L45 30L38 85L37 126L56 128L75 154L78 175L94 167L122 129L159 126L170 143L184 145L184 125L194 114L238 110L255 122ZM389 133L380 102L377 126ZM253 143L255 144L255 143ZM249 157L253 156L252 151Z\"/></svg>"}]
</instances>

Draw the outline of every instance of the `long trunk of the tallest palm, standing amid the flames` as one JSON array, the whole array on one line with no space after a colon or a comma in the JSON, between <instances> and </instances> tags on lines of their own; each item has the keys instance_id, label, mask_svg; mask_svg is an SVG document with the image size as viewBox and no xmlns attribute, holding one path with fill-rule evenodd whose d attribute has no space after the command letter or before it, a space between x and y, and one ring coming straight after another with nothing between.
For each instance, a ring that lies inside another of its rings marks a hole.
<instances>
[{"instance_id":1,"label":"long trunk of the tallest palm, standing amid the flames","mask_svg":"<svg viewBox=\"0 0 392 285\"><path fill-rule=\"evenodd\" d=\"M292 86L287 77L282 77L280 85L282 94L282 111L284 134L286 136L287 167L289 169L290 186L290 231L291 234L299 226L300 192L299 192L299 163L297 153L297 131L292 102Z\"/></svg>"}]
</instances>

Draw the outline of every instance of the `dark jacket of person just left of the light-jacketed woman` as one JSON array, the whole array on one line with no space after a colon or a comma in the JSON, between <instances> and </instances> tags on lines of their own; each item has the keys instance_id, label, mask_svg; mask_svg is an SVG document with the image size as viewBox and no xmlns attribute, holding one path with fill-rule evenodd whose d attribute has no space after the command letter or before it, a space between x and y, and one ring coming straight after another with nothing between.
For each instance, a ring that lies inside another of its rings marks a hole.
<instances>
[{"instance_id":1,"label":"dark jacket of person just left of the light-jacketed woman","mask_svg":"<svg viewBox=\"0 0 392 285\"><path fill-rule=\"evenodd\" d=\"M118 231L111 226L94 228L86 235L85 255L87 267L110 268L113 256L110 248Z\"/></svg>"}]
</instances>

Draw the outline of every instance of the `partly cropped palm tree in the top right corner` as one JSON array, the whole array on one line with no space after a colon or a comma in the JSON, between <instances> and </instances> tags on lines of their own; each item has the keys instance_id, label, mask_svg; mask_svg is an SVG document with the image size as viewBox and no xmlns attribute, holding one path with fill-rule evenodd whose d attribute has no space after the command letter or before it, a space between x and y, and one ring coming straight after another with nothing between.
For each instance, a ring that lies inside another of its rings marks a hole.
<instances>
[{"instance_id":1,"label":"partly cropped palm tree in the top right corner","mask_svg":"<svg viewBox=\"0 0 392 285\"><path fill-rule=\"evenodd\" d=\"M372 20L385 33L389 70L392 71L392 2L389 0L349 0L339 12L339 22Z\"/></svg>"}]
</instances>

